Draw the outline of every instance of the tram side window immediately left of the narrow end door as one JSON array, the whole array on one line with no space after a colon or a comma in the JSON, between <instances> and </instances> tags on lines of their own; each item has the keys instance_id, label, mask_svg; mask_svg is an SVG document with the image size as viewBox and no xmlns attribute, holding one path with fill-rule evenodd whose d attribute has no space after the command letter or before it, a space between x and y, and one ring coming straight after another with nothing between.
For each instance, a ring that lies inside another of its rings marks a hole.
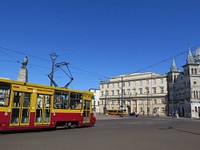
<instances>
[{"instance_id":1,"label":"tram side window immediately left of the narrow end door","mask_svg":"<svg viewBox=\"0 0 200 150\"><path fill-rule=\"evenodd\" d=\"M70 109L82 109L82 94L71 93L70 94Z\"/></svg>"}]
</instances>

